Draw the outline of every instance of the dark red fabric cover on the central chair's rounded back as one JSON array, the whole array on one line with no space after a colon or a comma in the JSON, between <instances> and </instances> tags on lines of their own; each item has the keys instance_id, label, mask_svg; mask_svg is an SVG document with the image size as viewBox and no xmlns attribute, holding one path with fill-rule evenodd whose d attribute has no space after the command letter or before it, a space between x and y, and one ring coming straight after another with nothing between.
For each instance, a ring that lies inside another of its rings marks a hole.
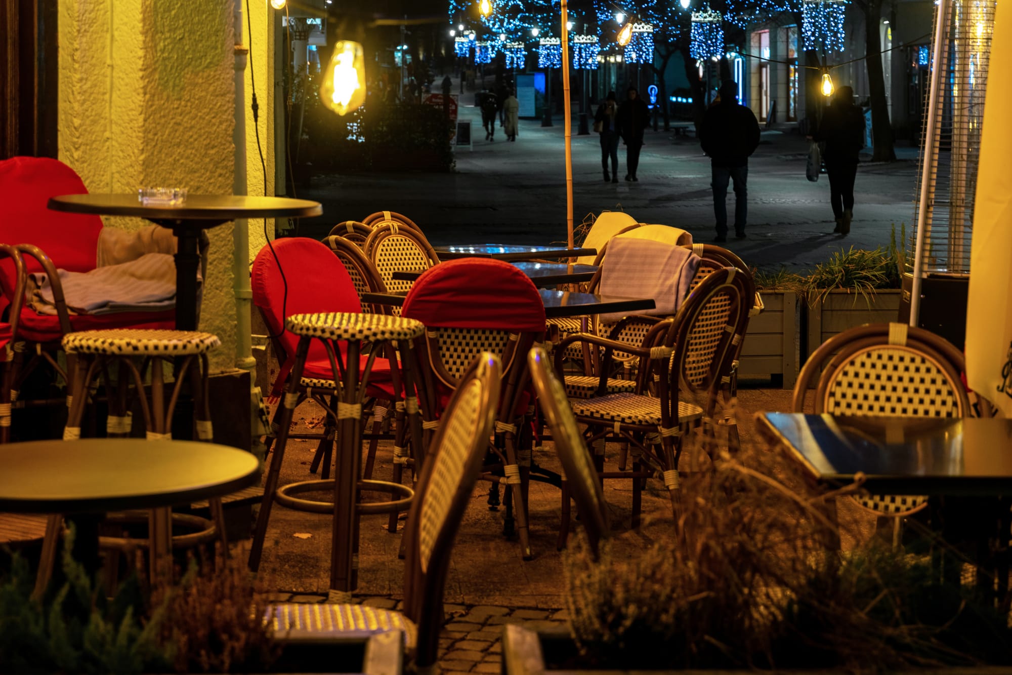
<instances>
[{"instance_id":1,"label":"dark red fabric cover on the central chair's rounded back","mask_svg":"<svg viewBox=\"0 0 1012 675\"><path fill-rule=\"evenodd\" d=\"M509 262L481 257L426 270L411 287L401 316L430 327L544 330L544 303L527 275Z\"/></svg>"}]
</instances>

